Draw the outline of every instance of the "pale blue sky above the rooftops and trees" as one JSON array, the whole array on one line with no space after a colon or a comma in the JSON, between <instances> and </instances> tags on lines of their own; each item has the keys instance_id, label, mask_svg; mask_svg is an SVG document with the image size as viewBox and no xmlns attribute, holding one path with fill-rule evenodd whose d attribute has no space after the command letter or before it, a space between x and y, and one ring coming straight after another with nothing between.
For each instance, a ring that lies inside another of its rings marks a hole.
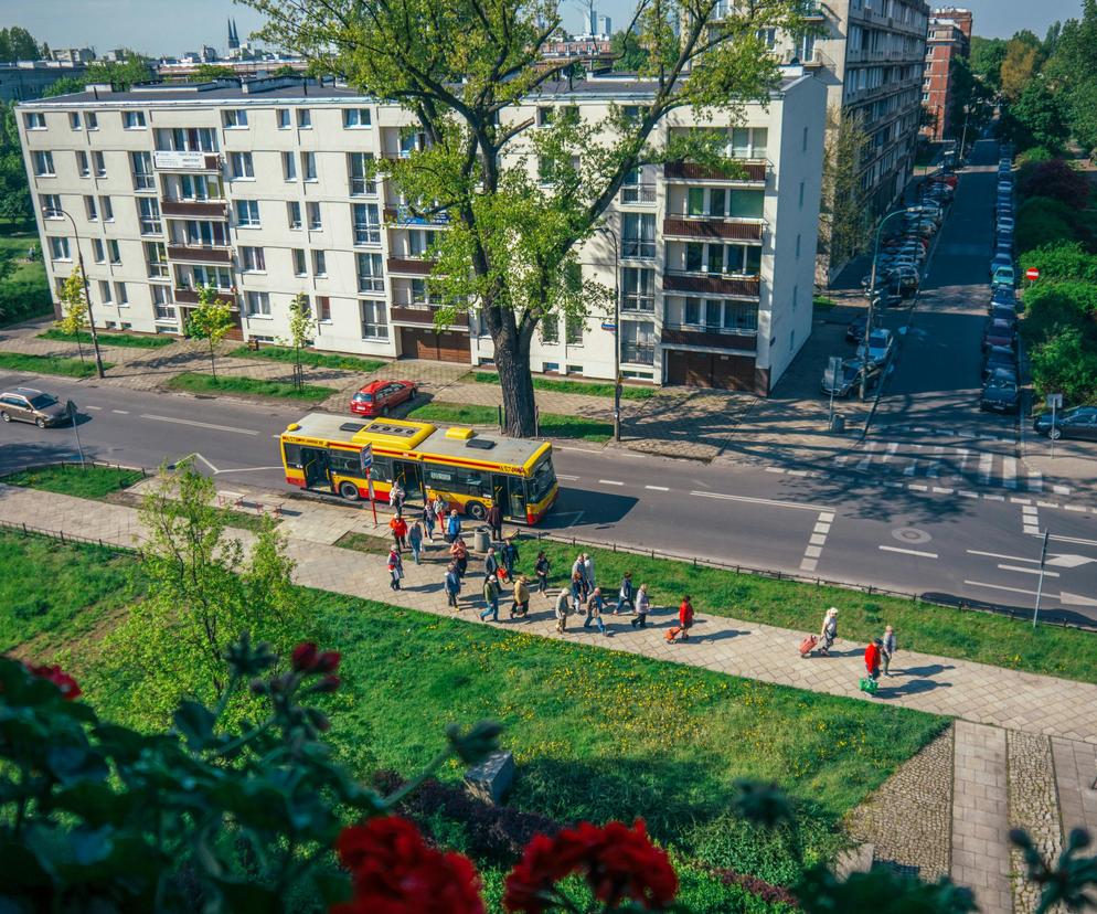
<instances>
[{"instance_id":1,"label":"pale blue sky above the rooftops and trees","mask_svg":"<svg viewBox=\"0 0 1097 914\"><path fill-rule=\"evenodd\" d=\"M610 17L614 29L625 25L636 0L595 0ZM1043 36L1057 19L1080 14L1082 0L956 0L970 9L974 33L1009 38L1019 29ZM561 4L564 25L579 31L584 4ZM202 44L225 50L228 17L236 19L241 38L262 24L262 17L233 0L0 0L0 26L22 25L53 47L94 46L97 51L134 47L149 56L198 51Z\"/></svg>"}]
</instances>

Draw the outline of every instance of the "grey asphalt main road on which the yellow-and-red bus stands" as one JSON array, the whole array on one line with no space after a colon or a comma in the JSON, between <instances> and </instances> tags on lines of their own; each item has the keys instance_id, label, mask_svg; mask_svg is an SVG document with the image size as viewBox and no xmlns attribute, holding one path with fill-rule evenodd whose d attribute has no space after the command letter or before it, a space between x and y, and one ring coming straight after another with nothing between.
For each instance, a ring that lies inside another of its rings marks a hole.
<instances>
[{"instance_id":1,"label":"grey asphalt main road on which the yellow-and-red bus stands","mask_svg":"<svg viewBox=\"0 0 1097 914\"><path fill-rule=\"evenodd\" d=\"M0 385L20 380L33 379L0 373ZM82 442L96 460L153 468L196 454L226 487L286 489L275 437L299 407L35 383L77 402ZM0 469L75 456L70 427L12 423L0 436ZM1043 612L1097 624L1097 511L1069 496L956 489L945 477L924 480L922 491L902 475L855 466L703 466L567 446L555 464L561 497L544 524L555 533L1022 610L1035 596L1033 531L1048 530L1059 539Z\"/></svg>"}]
</instances>

